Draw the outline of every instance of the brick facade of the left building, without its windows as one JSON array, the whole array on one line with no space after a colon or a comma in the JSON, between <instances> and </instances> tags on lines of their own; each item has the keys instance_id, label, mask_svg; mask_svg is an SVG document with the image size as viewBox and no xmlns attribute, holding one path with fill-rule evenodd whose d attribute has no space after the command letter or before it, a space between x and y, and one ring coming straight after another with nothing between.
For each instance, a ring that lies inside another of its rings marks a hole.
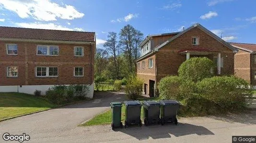
<instances>
[{"instance_id":1,"label":"brick facade of the left building, without its windows","mask_svg":"<svg viewBox=\"0 0 256 143\"><path fill-rule=\"evenodd\" d=\"M6 55L7 43L18 45L18 55ZM57 45L59 55L36 55L37 45ZM83 47L83 57L74 56L74 46ZM0 85L91 84L94 79L94 52L95 44L78 45L0 41ZM18 66L19 77L7 77L7 66ZM36 66L58 67L58 77L35 77ZM73 68L77 66L83 67L83 77L73 76Z\"/></svg>"}]
</instances>

